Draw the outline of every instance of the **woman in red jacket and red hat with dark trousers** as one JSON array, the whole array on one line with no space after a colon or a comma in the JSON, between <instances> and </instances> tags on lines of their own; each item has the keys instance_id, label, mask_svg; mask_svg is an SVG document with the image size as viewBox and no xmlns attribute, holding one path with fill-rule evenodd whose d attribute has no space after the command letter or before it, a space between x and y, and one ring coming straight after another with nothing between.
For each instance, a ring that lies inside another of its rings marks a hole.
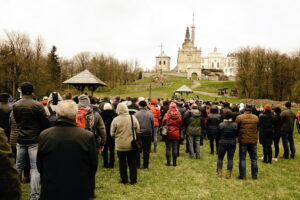
<instances>
[{"instance_id":1,"label":"woman in red jacket and red hat with dark trousers","mask_svg":"<svg viewBox=\"0 0 300 200\"><path fill-rule=\"evenodd\" d=\"M166 142L166 158L167 166L171 165L171 150L173 157L173 166L177 166L177 146L180 139L180 130L182 125L182 118L177 110L177 106L174 102L170 104L169 111L163 118L163 125L168 125L168 133L165 138Z\"/></svg>"}]
</instances>

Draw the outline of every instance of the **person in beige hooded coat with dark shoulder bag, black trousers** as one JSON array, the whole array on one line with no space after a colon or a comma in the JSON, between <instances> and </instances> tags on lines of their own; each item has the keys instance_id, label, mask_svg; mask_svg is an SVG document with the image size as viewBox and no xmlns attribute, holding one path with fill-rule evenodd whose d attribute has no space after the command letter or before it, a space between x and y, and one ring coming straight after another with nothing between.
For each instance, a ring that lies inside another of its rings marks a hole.
<instances>
[{"instance_id":1,"label":"person in beige hooded coat with dark shoulder bag, black trousers","mask_svg":"<svg viewBox=\"0 0 300 200\"><path fill-rule=\"evenodd\" d=\"M110 134L113 138L115 138L116 150L119 157L121 183L128 183L128 165L130 172L130 183L136 184L137 152L132 150L131 142L133 140L133 134L140 132L140 125L135 116L129 115L128 108L125 104L119 103L116 111L119 116L114 118L112 121ZM131 124L133 124L133 127ZM132 130L134 130L134 133Z\"/></svg>"}]
</instances>

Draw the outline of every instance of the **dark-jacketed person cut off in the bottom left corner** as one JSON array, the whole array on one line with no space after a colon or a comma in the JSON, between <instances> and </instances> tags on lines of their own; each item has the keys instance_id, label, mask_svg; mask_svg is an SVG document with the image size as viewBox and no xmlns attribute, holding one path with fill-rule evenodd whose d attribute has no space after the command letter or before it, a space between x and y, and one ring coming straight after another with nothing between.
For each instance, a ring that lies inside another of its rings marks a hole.
<instances>
[{"instance_id":1,"label":"dark-jacketed person cut off in the bottom left corner","mask_svg":"<svg viewBox=\"0 0 300 200\"><path fill-rule=\"evenodd\" d=\"M20 177L15 168L14 156L4 135L0 129L0 199L20 200Z\"/></svg>"}]
</instances>

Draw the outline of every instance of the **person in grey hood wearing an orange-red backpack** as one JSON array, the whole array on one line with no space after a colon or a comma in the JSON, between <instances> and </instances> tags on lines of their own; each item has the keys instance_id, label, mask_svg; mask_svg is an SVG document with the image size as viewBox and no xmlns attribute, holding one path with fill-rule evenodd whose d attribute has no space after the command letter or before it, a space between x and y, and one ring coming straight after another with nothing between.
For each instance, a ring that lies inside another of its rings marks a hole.
<instances>
[{"instance_id":1,"label":"person in grey hood wearing an orange-red backpack","mask_svg":"<svg viewBox=\"0 0 300 200\"><path fill-rule=\"evenodd\" d=\"M103 152L106 143L106 131L102 117L90 106L90 99L83 94L78 97L78 112L76 124L79 128L86 129L94 134L98 150ZM95 198L95 177L91 183L91 198Z\"/></svg>"}]
</instances>

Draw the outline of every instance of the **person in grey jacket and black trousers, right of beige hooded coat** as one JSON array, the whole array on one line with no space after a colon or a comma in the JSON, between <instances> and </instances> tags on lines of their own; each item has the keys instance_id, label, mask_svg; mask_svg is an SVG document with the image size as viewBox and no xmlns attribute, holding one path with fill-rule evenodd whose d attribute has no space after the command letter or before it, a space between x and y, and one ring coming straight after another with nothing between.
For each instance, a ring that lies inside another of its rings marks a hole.
<instances>
[{"instance_id":1,"label":"person in grey jacket and black trousers, right of beige hooded coat","mask_svg":"<svg viewBox=\"0 0 300 200\"><path fill-rule=\"evenodd\" d=\"M151 151L151 137L154 134L154 117L151 111L147 110L146 101L139 102L140 110L134 114L140 124L138 139L142 141L143 168L149 168ZM137 167L140 168L140 153L137 154Z\"/></svg>"}]
</instances>

